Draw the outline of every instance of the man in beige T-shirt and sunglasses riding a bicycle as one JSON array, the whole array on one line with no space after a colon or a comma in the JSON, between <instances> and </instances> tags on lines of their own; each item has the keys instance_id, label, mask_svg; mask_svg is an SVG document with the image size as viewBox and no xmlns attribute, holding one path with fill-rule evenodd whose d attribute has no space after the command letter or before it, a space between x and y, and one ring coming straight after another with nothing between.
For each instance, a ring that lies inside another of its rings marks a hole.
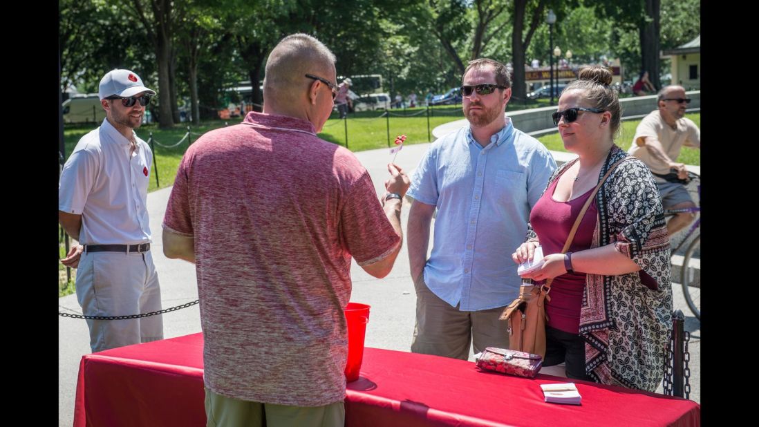
<instances>
[{"instance_id":1,"label":"man in beige T-shirt and sunglasses riding a bicycle","mask_svg":"<svg viewBox=\"0 0 759 427\"><path fill-rule=\"evenodd\" d=\"M657 110L651 111L635 129L628 152L641 159L653 173L662 196L664 209L692 208L696 205L685 189L688 171L685 164L675 162L682 146L701 149L701 130L684 118L691 99L685 98L682 86L665 86L657 97ZM669 235L685 228L694 214L681 212L666 224Z\"/></svg>"}]
</instances>

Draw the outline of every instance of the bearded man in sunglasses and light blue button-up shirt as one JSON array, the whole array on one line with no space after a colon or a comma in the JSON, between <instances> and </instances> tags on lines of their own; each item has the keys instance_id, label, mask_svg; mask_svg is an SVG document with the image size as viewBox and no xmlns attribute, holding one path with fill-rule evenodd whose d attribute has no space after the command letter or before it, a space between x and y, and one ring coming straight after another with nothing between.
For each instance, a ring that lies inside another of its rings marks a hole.
<instances>
[{"instance_id":1,"label":"bearded man in sunglasses and light blue button-up shirt","mask_svg":"<svg viewBox=\"0 0 759 427\"><path fill-rule=\"evenodd\" d=\"M406 229L417 291L411 351L468 359L470 344L474 353L509 346L498 318L521 284L509 253L524 242L556 162L505 117L512 83L503 64L471 61L462 84L469 125L435 141L421 159Z\"/></svg>"}]
</instances>

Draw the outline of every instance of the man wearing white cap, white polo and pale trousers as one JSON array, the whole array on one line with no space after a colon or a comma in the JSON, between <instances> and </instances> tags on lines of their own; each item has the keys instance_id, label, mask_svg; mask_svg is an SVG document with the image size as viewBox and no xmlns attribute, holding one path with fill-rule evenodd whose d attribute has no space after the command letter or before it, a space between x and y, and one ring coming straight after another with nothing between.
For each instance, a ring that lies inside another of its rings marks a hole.
<instances>
[{"instance_id":1,"label":"man wearing white cap, white polo and pale trousers","mask_svg":"<svg viewBox=\"0 0 759 427\"><path fill-rule=\"evenodd\" d=\"M83 136L61 171L58 222L80 244L61 262L77 271L85 316L128 316L161 309L146 209L153 152L134 129L156 93L129 70L100 80L106 118ZM94 352L163 338L162 316L92 320Z\"/></svg>"}]
</instances>

